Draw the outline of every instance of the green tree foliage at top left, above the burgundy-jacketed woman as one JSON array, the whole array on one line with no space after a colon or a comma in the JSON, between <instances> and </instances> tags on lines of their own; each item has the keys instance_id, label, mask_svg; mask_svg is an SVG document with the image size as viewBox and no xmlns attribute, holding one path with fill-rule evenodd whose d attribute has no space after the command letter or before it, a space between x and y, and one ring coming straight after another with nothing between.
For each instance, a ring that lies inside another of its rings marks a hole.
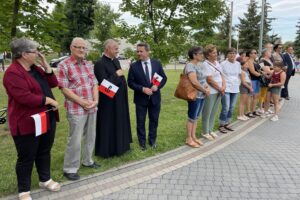
<instances>
[{"instance_id":1,"label":"green tree foliage at top left, above the burgundy-jacketed woman","mask_svg":"<svg viewBox=\"0 0 300 200\"><path fill-rule=\"evenodd\" d=\"M0 49L9 50L14 37L27 36L39 42L44 48L54 45L50 34L61 30L60 24L51 19L49 7L45 2L57 3L57 0L6 0L0 7Z\"/></svg>"}]
</instances>

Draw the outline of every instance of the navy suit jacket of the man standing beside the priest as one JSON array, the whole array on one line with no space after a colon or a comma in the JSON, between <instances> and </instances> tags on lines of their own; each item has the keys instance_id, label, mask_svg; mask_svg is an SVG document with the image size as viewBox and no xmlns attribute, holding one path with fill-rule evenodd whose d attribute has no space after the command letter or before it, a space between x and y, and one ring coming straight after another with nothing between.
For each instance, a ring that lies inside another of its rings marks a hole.
<instances>
[{"instance_id":1,"label":"navy suit jacket of the man standing beside the priest","mask_svg":"<svg viewBox=\"0 0 300 200\"><path fill-rule=\"evenodd\" d=\"M133 102L138 105L148 105L149 100L152 104L159 104L160 103L160 89L164 87L167 82L167 76L163 70L161 63L157 60L151 59L151 66L152 66L152 75L156 72L160 76L162 76L162 81L158 86L158 90L153 92L150 96L143 93L143 87L151 88L152 84L147 81L146 74L143 70L142 62L139 60L134 62L130 65L129 72L128 72L128 86L134 90L134 98Z\"/></svg>"}]
</instances>

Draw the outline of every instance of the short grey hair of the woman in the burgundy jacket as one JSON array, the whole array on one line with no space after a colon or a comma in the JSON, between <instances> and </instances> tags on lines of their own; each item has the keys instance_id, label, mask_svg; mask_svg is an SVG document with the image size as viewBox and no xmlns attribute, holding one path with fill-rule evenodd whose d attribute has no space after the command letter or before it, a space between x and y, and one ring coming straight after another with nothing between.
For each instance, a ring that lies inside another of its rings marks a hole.
<instances>
[{"instance_id":1,"label":"short grey hair of the woman in the burgundy jacket","mask_svg":"<svg viewBox=\"0 0 300 200\"><path fill-rule=\"evenodd\" d=\"M11 52L14 59L22 57L22 53L30 52L36 50L39 44L28 38L17 38L10 43Z\"/></svg>"}]
</instances>

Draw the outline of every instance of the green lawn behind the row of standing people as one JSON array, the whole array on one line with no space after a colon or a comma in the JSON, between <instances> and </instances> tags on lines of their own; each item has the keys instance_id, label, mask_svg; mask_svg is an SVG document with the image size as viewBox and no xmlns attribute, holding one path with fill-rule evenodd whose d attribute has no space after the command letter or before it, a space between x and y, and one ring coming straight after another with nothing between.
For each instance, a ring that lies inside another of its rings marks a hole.
<instances>
[{"instance_id":1,"label":"green lawn behind the row of standing people","mask_svg":"<svg viewBox=\"0 0 300 200\"><path fill-rule=\"evenodd\" d=\"M181 70L166 71L168 82L161 91L162 106L158 127L158 148L156 150L149 149L145 152L139 149L136 136L135 108L132 101L133 91L129 90L129 109L133 136L131 151L120 157L114 157L110 159L102 159L100 157L96 157L95 161L101 163L102 167L98 170L81 168L79 171L80 175L84 176L92 173L102 172L113 167L117 167L123 164L169 151L184 144L186 134L185 122L187 117L187 103L173 96L180 73ZM1 82L2 78L3 73L0 73ZM63 105L64 98L61 92L58 89L54 89L53 92L58 102ZM0 84L0 108L5 107L6 105L7 96L3 85ZM234 116L234 118L235 117L236 116ZM61 121L58 123L55 142L52 148L51 173L54 180L62 182L66 180L62 175L62 166L64 151L67 143L67 135L69 131L64 108L60 109L60 119ZM218 123L215 123L215 127L217 127L217 125ZM6 124L0 125L0 197L17 192L17 182L15 175L16 150L6 126ZM201 123L198 123L198 126L199 127L197 129L197 134L198 136L200 136ZM36 170L34 168L32 176L32 188L37 187L38 178Z\"/></svg>"}]
</instances>

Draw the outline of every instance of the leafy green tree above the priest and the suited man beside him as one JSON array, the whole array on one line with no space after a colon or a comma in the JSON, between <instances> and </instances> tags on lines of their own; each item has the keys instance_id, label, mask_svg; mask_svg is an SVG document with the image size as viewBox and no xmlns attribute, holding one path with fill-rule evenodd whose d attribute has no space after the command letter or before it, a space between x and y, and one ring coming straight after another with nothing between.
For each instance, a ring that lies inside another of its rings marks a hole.
<instances>
[{"instance_id":1,"label":"leafy green tree above the priest and the suited man beside him","mask_svg":"<svg viewBox=\"0 0 300 200\"><path fill-rule=\"evenodd\" d=\"M213 30L224 5L223 0L123 0L121 10L130 12L141 23L121 23L122 36L133 44L149 43L153 57L167 63L170 58L186 54L190 43L202 42L201 36L211 35L203 33Z\"/></svg>"}]
</instances>

